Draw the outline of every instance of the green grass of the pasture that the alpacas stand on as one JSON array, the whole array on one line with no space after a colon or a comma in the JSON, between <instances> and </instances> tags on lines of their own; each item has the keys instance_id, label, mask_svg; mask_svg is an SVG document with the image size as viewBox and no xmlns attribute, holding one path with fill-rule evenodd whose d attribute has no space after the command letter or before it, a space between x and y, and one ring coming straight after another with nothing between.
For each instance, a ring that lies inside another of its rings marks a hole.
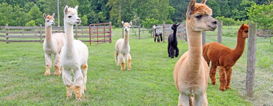
<instances>
[{"instance_id":1,"label":"green grass of the pasture that the alpacas stand on","mask_svg":"<svg viewBox=\"0 0 273 106\"><path fill-rule=\"evenodd\" d=\"M44 76L42 44L0 42L0 105L177 105L179 93L173 80L173 68L179 58L168 57L167 42L153 43L149 34L143 36L147 39L133 39L135 35L130 33L132 68L120 71L114 62L114 44L120 34L120 29L113 30L113 43L86 43L89 68L87 91L82 101L76 101L75 95L66 99L61 77ZM188 45L184 40L178 42L180 57ZM53 72L52 68L51 74ZM209 105L251 105L237 88L231 86L225 92L218 88L219 82L216 86L208 84Z\"/></svg>"}]
</instances>

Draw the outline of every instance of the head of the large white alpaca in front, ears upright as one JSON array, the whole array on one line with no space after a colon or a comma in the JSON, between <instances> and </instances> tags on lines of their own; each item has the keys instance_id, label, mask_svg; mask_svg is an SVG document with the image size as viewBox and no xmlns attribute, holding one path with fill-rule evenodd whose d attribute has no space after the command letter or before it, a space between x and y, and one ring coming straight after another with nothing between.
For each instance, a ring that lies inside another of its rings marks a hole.
<instances>
[{"instance_id":1,"label":"head of the large white alpaca in front, ears upright","mask_svg":"<svg viewBox=\"0 0 273 106\"><path fill-rule=\"evenodd\" d=\"M64 8L64 18L63 21L67 25L79 25L81 23L81 18L78 17L78 12L77 12L78 6L75 8L69 7L66 5Z\"/></svg>"}]
</instances>

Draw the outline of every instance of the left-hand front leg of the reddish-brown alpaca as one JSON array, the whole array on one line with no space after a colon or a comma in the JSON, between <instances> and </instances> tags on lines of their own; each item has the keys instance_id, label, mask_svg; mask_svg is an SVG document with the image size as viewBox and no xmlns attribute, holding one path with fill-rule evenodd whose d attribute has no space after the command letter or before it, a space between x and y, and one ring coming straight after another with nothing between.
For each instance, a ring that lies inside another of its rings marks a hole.
<instances>
[{"instance_id":1,"label":"left-hand front leg of the reddish-brown alpaca","mask_svg":"<svg viewBox=\"0 0 273 106\"><path fill-rule=\"evenodd\" d=\"M224 68L223 66L220 66L219 81L220 81L220 87L219 87L219 89L221 91L225 91L226 90L226 86L227 86L227 75L226 75L226 68Z\"/></svg>"}]
</instances>

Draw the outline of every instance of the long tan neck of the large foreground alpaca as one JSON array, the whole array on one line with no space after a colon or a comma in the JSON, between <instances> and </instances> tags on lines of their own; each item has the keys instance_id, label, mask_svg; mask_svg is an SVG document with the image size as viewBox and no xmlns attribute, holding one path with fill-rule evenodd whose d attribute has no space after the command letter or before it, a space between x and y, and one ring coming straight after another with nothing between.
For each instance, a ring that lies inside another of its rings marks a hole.
<instances>
[{"instance_id":1,"label":"long tan neck of the large foreground alpaca","mask_svg":"<svg viewBox=\"0 0 273 106\"><path fill-rule=\"evenodd\" d=\"M191 73L198 73L201 61L202 61L202 35L201 31L194 31L190 28L186 28L188 45L189 45L189 56L188 65Z\"/></svg>"}]
</instances>

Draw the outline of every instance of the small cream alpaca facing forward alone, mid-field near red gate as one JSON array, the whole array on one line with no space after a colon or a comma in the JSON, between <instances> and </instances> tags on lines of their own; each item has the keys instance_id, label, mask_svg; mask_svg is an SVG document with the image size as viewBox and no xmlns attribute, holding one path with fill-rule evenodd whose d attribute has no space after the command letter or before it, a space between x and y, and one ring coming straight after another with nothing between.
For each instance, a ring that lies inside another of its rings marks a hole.
<instances>
[{"instance_id":1,"label":"small cream alpaca facing forward alone, mid-field near red gate","mask_svg":"<svg viewBox=\"0 0 273 106\"><path fill-rule=\"evenodd\" d=\"M130 45L129 45L129 31L130 31L130 26L132 25L132 22L124 23L123 21L121 22L124 29L125 29L125 37L124 39L119 39L116 41L116 53L115 53L115 61L116 61L116 66L119 66L119 55L120 55L120 64L121 64L121 71L125 69L125 58L127 57L127 67L128 71L131 69L131 55L129 54L130 52Z\"/></svg>"}]
</instances>

